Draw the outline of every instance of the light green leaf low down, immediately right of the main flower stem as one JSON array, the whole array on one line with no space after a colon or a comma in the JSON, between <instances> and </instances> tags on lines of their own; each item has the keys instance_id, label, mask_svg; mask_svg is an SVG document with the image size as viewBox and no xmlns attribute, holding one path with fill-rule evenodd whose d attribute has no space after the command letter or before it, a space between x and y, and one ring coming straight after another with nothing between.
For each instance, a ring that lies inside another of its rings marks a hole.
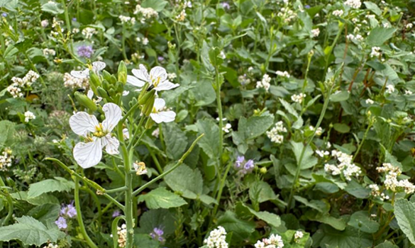
<instances>
[{"instance_id":1,"label":"light green leaf low down, immediately right of the main flower stem","mask_svg":"<svg viewBox=\"0 0 415 248\"><path fill-rule=\"evenodd\" d=\"M175 193L167 191L165 187L153 189L150 193L138 197L138 202L140 203L142 201L145 201L145 205L150 209L177 208L187 204L183 198L177 196Z\"/></svg>"}]
</instances>

